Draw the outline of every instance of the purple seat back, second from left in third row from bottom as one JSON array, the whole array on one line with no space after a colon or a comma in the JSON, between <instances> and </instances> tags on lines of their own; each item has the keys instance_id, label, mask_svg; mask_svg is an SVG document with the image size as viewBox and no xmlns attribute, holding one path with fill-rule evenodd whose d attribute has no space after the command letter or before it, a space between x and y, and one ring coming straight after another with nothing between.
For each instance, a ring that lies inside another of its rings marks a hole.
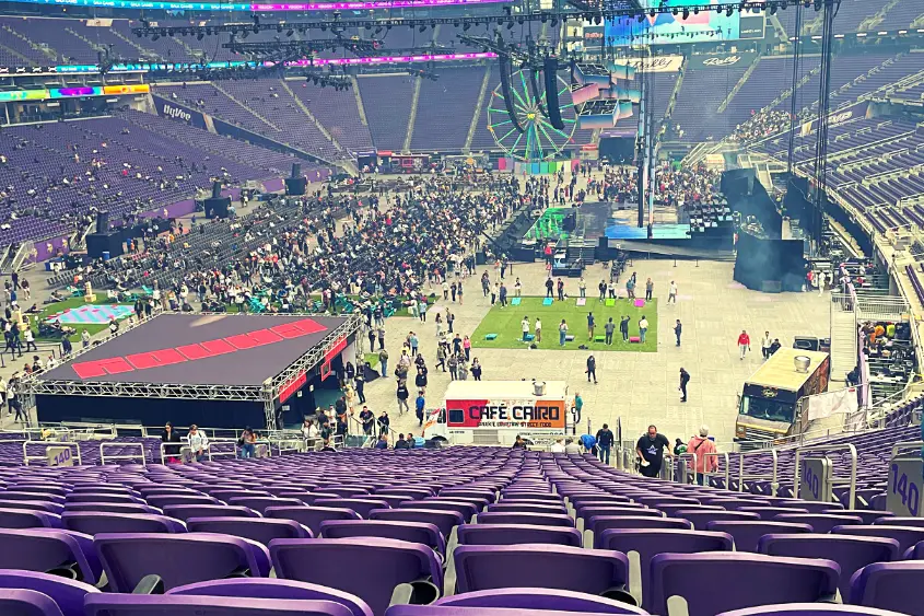
<instances>
[{"instance_id":1,"label":"purple seat back, second from left in third row from bottom","mask_svg":"<svg viewBox=\"0 0 924 616\"><path fill-rule=\"evenodd\" d=\"M229 576L266 577L264 546L225 535L188 533L101 533L93 545L114 592L131 592L145 576L159 576L169 590Z\"/></svg>"}]
</instances>

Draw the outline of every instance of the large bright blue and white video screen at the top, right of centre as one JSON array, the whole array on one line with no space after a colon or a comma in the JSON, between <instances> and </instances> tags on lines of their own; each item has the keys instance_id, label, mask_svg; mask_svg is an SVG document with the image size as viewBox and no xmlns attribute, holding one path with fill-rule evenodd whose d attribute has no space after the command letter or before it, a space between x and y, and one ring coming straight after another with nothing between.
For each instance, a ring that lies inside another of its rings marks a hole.
<instances>
[{"instance_id":1,"label":"large bright blue and white video screen at the top, right of centre","mask_svg":"<svg viewBox=\"0 0 924 616\"><path fill-rule=\"evenodd\" d=\"M679 45L702 43L704 40L735 40L740 37L740 14L738 11L726 15L724 12L700 11L683 19L683 8L701 7L702 0L640 0L645 9L668 7L676 8L677 14L659 13L645 15L642 22L634 18L617 18L607 23L606 37L612 45ZM710 0L718 4L720 0Z\"/></svg>"}]
</instances>

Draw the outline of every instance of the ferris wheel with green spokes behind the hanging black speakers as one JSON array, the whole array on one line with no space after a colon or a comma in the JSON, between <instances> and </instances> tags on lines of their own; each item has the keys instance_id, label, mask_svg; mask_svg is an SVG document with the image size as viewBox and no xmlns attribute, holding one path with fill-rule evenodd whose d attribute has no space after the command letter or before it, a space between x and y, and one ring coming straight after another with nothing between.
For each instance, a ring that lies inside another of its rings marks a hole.
<instances>
[{"instance_id":1,"label":"ferris wheel with green spokes behind the hanging black speakers","mask_svg":"<svg viewBox=\"0 0 924 616\"><path fill-rule=\"evenodd\" d=\"M523 162L551 161L573 143L577 119L571 100L571 86L557 75L559 112L563 129L552 126L546 108L545 80L536 83L529 71L519 70L511 75L512 107L523 131L519 131L507 113L503 88L498 84L488 105L488 130L507 156ZM533 85L533 88L530 88ZM534 95L535 93L535 95Z\"/></svg>"}]
</instances>

